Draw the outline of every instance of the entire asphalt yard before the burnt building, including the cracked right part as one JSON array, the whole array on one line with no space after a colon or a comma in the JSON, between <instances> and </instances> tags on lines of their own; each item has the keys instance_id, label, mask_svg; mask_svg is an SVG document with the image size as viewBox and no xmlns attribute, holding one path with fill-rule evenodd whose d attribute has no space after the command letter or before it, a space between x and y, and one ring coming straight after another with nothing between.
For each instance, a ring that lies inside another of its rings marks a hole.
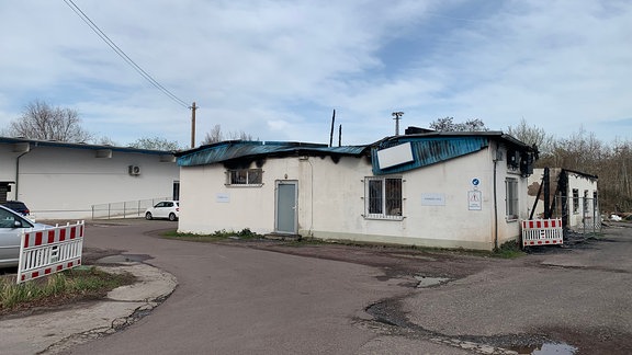
<instances>
[{"instance_id":1,"label":"entire asphalt yard before the burnt building, including the cracked right part","mask_svg":"<svg viewBox=\"0 0 632 355\"><path fill-rule=\"evenodd\" d=\"M159 228L176 224L87 229L87 248L148 257L179 286L134 325L70 354L632 353L632 228L514 261L273 252L148 233ZM449 282L414 287L414 275L438 274Z\"/></svg>"}]
</instances>

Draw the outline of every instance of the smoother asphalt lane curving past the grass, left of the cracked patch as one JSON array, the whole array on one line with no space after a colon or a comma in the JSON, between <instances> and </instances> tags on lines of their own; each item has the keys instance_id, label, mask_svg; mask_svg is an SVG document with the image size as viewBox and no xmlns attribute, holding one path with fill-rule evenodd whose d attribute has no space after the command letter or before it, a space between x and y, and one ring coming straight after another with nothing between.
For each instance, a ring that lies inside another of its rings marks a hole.
<instances>
[{"instance_id":1,"label":"smoother asphalt lane curving past the grass, left of the cracked patch","mask_svg":"<svg viewBox=\"0 0 632 355\"><path fill-rule=\"evenodd\" d=\"M179 285L150 316L72 354L350 354L375 336L356 318L405 290L368 266L144 234L158 225L169 222L87 229L86 247L151 255Z\"/></svg>"}]
</instances>

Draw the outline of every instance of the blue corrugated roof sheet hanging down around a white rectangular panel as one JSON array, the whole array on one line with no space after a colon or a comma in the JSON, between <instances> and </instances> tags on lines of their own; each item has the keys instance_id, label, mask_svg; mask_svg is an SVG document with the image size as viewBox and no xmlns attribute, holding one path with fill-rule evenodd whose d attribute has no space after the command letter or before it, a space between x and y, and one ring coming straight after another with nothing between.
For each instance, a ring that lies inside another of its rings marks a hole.
<instances>
[{"instance_id":1,"label":"blue corrugated roof sheet hanging down around a white rectangular panel","mask_svg":"<svg viewBox=\"0 0 632 355\"><path fill-rule=\"evenodd\" d=\"M404 142L410 142L413 150L413 161L380 169L377 151L381 149L394 147ZM373 174L383 175L400 173L404 171L427 167L441 161L462 157L489 146L488 137L406 137L382 141L379 147L371 149L371 161L373 164Z\"/></svg>"}]
</instances>

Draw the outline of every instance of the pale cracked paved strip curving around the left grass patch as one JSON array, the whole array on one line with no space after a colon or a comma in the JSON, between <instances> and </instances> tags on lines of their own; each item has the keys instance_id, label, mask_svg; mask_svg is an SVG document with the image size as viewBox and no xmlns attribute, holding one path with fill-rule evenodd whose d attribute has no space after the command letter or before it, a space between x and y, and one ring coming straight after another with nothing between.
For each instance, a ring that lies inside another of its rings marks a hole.
<instances>
[{"instance_id":1,"label":"pale cracked paved strip curving around the left grass patch","mask_svg":"<svg viewBox=\"0 0 632 355\"><path fill-rule=\"evenodd\" d=\"M100 301L0 320L2 354L57 354L113 334L149 314L178 286L173 275L144 263L97 267L109 273L128 272L137 282L111 290Z\"/></svg>"}]
</instances>

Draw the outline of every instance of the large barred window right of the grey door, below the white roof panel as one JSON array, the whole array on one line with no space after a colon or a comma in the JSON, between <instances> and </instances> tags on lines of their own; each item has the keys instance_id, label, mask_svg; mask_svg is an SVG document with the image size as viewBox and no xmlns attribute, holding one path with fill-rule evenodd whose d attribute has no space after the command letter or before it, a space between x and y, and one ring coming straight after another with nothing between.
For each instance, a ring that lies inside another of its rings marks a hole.
<instances>
[{"instance_id":1,"label":"large barred window right of the grey door, below the white roof panel","mask_svg":"<svg viewBox=\"0 0 632 355\"><path fill-rule=\"evenodd\" d=\"M364 181L365 217L402 219L402 178L366 178Z\"/></svg>"}]
</instances>

